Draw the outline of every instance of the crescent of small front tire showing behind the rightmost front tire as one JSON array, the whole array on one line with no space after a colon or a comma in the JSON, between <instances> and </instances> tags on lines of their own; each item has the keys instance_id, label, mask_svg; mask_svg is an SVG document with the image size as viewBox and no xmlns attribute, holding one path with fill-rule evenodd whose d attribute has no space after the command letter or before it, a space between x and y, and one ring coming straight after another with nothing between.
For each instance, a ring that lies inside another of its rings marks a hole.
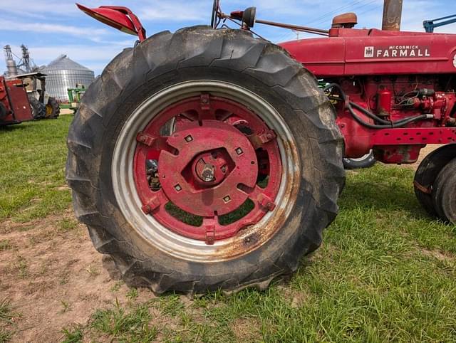
<instances>
[{"instance_id":1,"label":"crescent of small front tire showing behind the rightmost front tire","mask_svg":"<svg viewBox=\"0 0 456 343\"><path fill-rule=\"evenodd\" d=\"M435 179L440 171L455 158L456 144L444 145L428 154L415 172L415 195L430 216L439 216L432 202Z\"/></svg>"}]
</instances>

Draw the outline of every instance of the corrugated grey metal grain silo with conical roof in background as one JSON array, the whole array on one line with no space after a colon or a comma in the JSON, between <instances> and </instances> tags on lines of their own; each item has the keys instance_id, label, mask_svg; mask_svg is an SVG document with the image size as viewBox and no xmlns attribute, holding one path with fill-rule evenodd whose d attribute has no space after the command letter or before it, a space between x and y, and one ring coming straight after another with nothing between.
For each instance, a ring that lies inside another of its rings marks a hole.
<instances>
[{"instance_id":1,"label":"corrugated grey metal grain silo with conical roof in background","mask_svg":"<svg viewBox=\"0 0 456 343\"><path fill-rule=\"evenodd\" d=\"M46 74L46 91L51 97L63 102L68 101L68 88L84 85L86 88L95 79L92 70L76 63L66 55L53 60L41 73Z\"/></svg>"}]
</instances>

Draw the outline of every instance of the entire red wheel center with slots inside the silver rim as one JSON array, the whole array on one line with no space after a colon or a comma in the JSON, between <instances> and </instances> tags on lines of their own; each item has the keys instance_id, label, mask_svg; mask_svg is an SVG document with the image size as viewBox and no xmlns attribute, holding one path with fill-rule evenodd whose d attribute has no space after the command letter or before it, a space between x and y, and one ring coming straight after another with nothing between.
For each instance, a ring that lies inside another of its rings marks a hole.
<instances>
[{"instance_id":1,"label":"entire red wheel center with slots inside the silver rim","mask_svg":"<svg viewBox=\"0 0 456 343\"><path fill-rule=\"evenodd\" d=\"M238 102L189 97L157 114L136 139L142 211L175 233L212 244L276 206L282 171L276 134Z\"/></svg>"}]
</instances>

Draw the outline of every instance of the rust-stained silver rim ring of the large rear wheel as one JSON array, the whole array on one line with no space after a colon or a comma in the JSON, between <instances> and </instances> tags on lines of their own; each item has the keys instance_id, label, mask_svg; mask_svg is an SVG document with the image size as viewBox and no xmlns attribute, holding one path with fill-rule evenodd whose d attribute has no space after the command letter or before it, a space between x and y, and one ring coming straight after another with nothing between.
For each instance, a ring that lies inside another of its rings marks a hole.
<instances>
[{"instance_id":1,"label":"rust-stained silver rim ring of the large rear wheel","mask_svg":"<svg viewBox=\"0 0 456 343\"><path fill-rule=\"evenodd\" d=\"M173 233L152 216L145 215L141 210L142 204L135 189L133 177L133 156L137 144L136 134L142 131L150 120L167 106L187 97L199 95L202 92L227 97L249 107L257 115L261 113L259 117L279 137L278 144L282 163L281 184L275 199L276 209L267 213L259 223L239 231L237 236L217 241L212 246L207 245L204 241L193 240ZM279 112L266 100L249 90L232 83L212 80L178 83L155 93L142 102L133 111L120 131L115 144L111 167L115 200L130 226L155 248L175 258L202 263L237 258L269 241L294 208L301 178L296 142ZM244 240L255 232L260 233L258 241L252 246L246 247Z\"/></svg>"}]
</instances>

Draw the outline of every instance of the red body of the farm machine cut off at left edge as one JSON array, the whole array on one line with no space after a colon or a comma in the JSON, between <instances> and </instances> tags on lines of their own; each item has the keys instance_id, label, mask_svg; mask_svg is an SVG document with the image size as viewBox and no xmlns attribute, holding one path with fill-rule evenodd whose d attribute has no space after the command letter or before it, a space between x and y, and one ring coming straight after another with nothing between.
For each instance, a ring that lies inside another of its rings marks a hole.
<instances>
[{"instance_id":1,"label":"red body of the farm machine cut off at left edge","mask_svg":"<svg viewBox=\"0 0 456 343\"><path fill-rule=\"evenodd\" d=\"M33 120L30 104L21 80L5 80L0 76L0 125Z\"/></svg>"}]
</instances>

